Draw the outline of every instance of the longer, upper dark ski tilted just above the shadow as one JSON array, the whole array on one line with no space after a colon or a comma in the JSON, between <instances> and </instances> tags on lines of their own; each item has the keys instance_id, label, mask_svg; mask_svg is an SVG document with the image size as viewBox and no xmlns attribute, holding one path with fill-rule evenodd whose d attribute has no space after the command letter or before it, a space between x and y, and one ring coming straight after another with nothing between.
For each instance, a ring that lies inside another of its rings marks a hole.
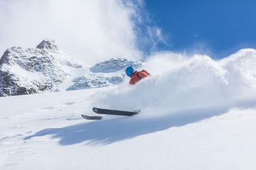
<instances>
[{"instance_id":1,"label":"longer, upper dark ski tilted just above the shadow","mask_svg":"<svg viewBox=\"0 0 256 170\"><path fill-rule=\"evenodd\" d=\"M138 114L140 110L129 112L129 111L122 111L122 110L100 109L97 107L93 107L93 112L97 114L102 114L102 115L133 116Z\"/></svg>"}]
</instances>

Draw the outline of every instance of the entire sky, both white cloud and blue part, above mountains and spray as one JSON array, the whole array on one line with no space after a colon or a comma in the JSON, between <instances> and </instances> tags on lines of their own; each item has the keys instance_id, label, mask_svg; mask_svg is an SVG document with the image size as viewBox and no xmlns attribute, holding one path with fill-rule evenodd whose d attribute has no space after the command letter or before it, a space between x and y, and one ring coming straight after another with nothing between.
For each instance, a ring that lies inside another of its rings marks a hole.
<instances>
[{"instance_id":1,"label":"entire sky, both white cloud and blue part, above mountains and spray","mask_svg":"<svg viewBox=\"0 0 256 170\"><path fill-rule=\"evenodd\" d=\"M130 20L130 8L115 0L1 0L0 21L5 24L0 27L0 55L13 46L36 47L45 38L55 39L63 51L86 63L112 57L138 59L138 51L186 51L223 58L241 48L256 49L255 0L143 1L144 7L132 11L138 18L149 14L151 22ZM158 40L155 26L166 39L158 48L152 48Z\"/></svg>"}]
</instances>

